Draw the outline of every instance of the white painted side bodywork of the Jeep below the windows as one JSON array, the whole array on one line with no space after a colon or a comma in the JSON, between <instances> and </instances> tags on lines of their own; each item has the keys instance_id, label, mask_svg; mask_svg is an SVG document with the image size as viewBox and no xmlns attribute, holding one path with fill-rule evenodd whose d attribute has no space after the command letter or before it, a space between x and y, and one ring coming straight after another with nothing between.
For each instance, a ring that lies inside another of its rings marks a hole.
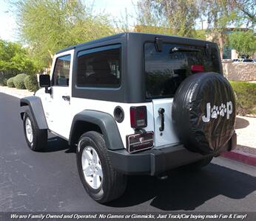
<instances>
[{"instance_id":1,"label":"white painted side bodywork of the Jeep below the windows","mask_svg":"<svg viewBox=\"0 0 256 221\"><path fill-rule=\"evenodd\" d=\"M43 89L39 90L36 93L36 96L41 97L45 116L47 118L47 124L50 130L58 135L63 136L67 140L70 137L70 129L71 124L73 122L73 118L75 114L80 113L84 110L93 110L93 111L102 111L104 113L109 113L113 116L113 112L116 106L121 106L124 110L124 121L121 123L117 122L118 130L121 135L121 139L123 141L124 147L126 147L126 136L135 133L134 129L132 129L130 125L130 118L129 118L129 108L131 106L141 106L145 105L147 110L147 117L148 117L148 124L147 127L144 129L146 131L154 131L154 121L153 119L153 108L152 102L149 103L135 103L135 104L125 104L125 103L117 103L117 102L107 102L95 99L82 99L71 97L70 98L70 107L67 108L68 110L63 110L60 112L60 108L57 108L55 105L54 108L49 108L53 105L53 99L49 99L50 94L44 94ZM48 97L46 100L44 97ZM62 98L59 98L59 102L61 103ZM63 107L64 105L62 105ZM68 115L66 115L68 111ZM56 116L59 115L59 116ZM58 119L55 119L55 117Z\"/></svg>"}]
</instances>

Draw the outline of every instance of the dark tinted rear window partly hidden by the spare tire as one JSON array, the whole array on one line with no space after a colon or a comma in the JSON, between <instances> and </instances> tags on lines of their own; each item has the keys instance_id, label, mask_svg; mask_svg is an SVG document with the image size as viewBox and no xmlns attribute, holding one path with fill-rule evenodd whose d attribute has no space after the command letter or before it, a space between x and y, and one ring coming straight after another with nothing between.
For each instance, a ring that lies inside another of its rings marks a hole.
<instances>
[{"instance_id":1,"label":"dark tinted rear window partly hidden by the spare tire","mask_svg":"<svg viewBox=\"0 0 256 221\"><path fill-rule=\"evenodd\" d=\"M220 73L215 47L182 46L164 43L161 52L155 43L145 43L146 98L174 97L186 77L198 71Z\"/></svg>"}]
</instances>

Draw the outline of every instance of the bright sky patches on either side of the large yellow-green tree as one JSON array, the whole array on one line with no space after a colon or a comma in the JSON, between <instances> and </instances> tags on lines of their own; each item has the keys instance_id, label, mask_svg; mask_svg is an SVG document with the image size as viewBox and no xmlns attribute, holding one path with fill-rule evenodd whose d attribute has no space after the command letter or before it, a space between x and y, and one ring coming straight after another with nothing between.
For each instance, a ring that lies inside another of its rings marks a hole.
<instances>
[{"instance_id":1,"label":"bright sky patches on either side of the large yellow-green tree","mask_svg":"<svg viewBox=\"0 0 256 221\"><path fill-rule=\"evenodd\" d=\"M121 19L127 9L128 14L135 14L133 4L138 0L90 0L94 2L96 13L109 13L114 18ZM15 16L8 8L6 0L0 0L0 38L6 41L18 41L18 31Z\"/></svg>"}]
</instances>

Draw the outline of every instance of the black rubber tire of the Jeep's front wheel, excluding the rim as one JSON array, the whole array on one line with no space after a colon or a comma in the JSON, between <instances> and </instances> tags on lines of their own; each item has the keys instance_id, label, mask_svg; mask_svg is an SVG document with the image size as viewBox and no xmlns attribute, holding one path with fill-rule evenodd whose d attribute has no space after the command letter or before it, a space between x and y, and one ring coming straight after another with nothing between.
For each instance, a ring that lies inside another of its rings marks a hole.
<instances>
[{"instance_id":1,"label":"black rubber tire of the Jeep's front wheel, excluding the rim","mask_svg":"<svg viewBox=\"0 0 256 221\"><path fill-rule=\"evenodd\" d=\"M27 132L26 132L27 120L30 120L31 127L32 127L33 139L31 141L27 137ZM38 127L36 126L36 122L33 119L33 116L30 115L30 113L27 113L27 112L24 113L23 128L24 128L24 135L27 141L27 145L28 147L30 147L31 150L39 151L44 149L44 147L47 147L47 136L48 136L47 130L38 129Z\"/></svg>"}]
</instances>

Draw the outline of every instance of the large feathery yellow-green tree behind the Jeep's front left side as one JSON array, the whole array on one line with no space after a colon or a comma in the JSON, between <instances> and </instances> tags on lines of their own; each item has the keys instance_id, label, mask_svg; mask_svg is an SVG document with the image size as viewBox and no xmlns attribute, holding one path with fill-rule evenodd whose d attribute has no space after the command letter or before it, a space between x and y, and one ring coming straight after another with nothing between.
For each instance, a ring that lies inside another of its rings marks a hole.
<instances>
[{"instance_id":1,"label":"large feathery yellow-green tree behind the Jeep's front left side","mask_svg":"<svg viewBox=\"0 0 256 221\"><path fill-rule=\"evenodd\" d=\"M18 28L38 66L50 67L59 49L114 33L107 15L74 0L18 0Z\"/></svg>"}]
</instances>

